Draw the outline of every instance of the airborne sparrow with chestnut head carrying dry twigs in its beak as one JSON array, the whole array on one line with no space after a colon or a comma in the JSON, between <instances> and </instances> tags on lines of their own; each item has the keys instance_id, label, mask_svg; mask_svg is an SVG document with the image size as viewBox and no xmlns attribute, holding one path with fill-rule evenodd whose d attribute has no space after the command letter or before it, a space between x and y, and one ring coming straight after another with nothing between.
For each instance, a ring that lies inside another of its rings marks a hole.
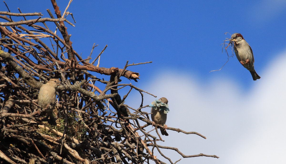
<instances>
[{"instance_id":1,"label":"airborne sparrow with chestnut head carrying dry twigs in its beak","mask_svg":"<svg viewBox=\"0 0 286 164\"><path fill-rule=\"evenodd\" d=\"M260 76L254 70L253 52L249 44L243 39L240 33L231 35L231 42L234 42L234 52L239 62L250 71L253 80L260 79Z\"/></svg>"}]
</instances>

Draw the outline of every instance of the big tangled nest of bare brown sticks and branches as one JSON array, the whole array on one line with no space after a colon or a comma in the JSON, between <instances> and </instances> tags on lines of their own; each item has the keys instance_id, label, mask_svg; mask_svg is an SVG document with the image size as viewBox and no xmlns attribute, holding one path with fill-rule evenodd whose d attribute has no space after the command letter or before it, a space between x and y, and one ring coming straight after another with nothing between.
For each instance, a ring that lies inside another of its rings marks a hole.
<instances>
[{"instance_id":1,"label":"big tangled nest of bare brown sticks and branches","mask_svg":"<svg viewBox=\"0 0 286 164\"><path fill-rule=\"evenodd\" d=\"M144 130L152 124L150 113L142 111L148 106L143 106L143 95L150 93L131 83L120 83L120 78L137 82L139 73L126 69L138 64L128 64L127 61L123 69L94 66L106 47L93 62L88 62L91 58L82 59L71 46L64 22L73 24L61 16L55 2L53 7L56 19L49 10L51 18L29 20L27 16L42 14L0 12L0 19L5 20L0 22L0 161L127 164L149 163L151 160L164 163L156 158L154 149L170 163L172 160L160 149L172 149L182 157L219 158L205 154L184 155L177 148L158 145L158 141L163 141L156 128L160 125L155 125L158 136ZM25 21L13 21L15 18L11 16L24 17ZM54 22L61 36L50 30L55 27L47 27L48 21ZM27 28L22 25L27 25ZM47 39L50 44L47 44ZM108 75L110 80L92 74ZM51 78L59 78L63 83L57 88L58 101L54 110L58 115L57 126L40 121L37 104L39 88ZM104 84L103 90L95 82ZM122 97L118 90L124 87L130 89ZM137 109L124 104L134 89L142 95ZM205 138L196 132L172 127L168 130Z\"/></svg>"}]
</instances>

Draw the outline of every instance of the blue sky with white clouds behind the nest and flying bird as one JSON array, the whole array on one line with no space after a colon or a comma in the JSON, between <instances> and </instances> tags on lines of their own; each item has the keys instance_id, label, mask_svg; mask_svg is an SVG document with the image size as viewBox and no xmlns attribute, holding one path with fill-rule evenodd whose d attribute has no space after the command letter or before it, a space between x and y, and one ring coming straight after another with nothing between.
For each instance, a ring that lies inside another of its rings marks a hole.
<instances>
[{"instance_id":1,"label":"blue sky with white clouds behind the nest and flying bird","mask_svg":"<svg viewBox=\"0 0 286 164\"><path fill-rule=\"evenodd\" d=\"M11 12L19 7L48 17L46 9L53 11L50 1L6 3ZM62 12L67 3L58 1ZM5 5L0 10L7 11ZM74 50L85 58L98 44L94 59L107 44L100 58L100 67L107 68L123 68L126 60L152 61L128 68L140 73L138 83L122 82L168 98L168 126L207 137L168 132L162 145L172 143L186 155L221 157L179 163L285 163L285 0L73 1L68 11L76 20L76 27L66 24ZM209 72L227 61L220 46L230 38L225 32L243 35L261 79L253 81L236 57ZM140 95L132 94L126 103L138 107ZM146 95L144 104L153 100ZM181 137L184 142L172 142ZM173 162L180 158L174 154L169 154Z\"/></svg>"}]
</instances>

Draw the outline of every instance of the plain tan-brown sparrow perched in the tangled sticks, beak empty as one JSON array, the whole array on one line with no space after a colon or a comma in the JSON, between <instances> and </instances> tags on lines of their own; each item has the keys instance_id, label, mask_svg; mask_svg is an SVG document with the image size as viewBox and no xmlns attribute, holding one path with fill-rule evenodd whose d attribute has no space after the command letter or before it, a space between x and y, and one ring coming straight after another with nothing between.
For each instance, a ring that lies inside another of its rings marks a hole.
<instances>
[{"instance_id":1,"label":"plain tan-brown sparrow perched in the tangled sticks, beak empty","mask_svg":"<svg viewBox=\"0 0 286 164\"><path fill-rule=\"evenodd\" d=\"M43 84L39 90L38 95L38 104L41 108L45 109L45 112L48 114L46 118L50 117L50 124L56 125L55 117L53 116L53 108L48 108L48 106L55 102L55 88L61 85L59 79L50 79L49 82Z\"/></svg>"}]
</instances>

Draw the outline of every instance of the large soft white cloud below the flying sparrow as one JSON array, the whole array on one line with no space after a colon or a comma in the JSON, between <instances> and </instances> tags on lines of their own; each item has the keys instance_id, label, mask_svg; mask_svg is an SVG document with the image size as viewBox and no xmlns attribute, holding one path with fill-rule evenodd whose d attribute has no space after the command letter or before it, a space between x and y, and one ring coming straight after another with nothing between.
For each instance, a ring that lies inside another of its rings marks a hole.
<instances>
[{"instance_id":1,"label":"large soft white cloud below the flying sparrow","mask_svg":"<svg viewBox=\"0 0 286 164\"><path fill-rule=\"evenodd\" d=\"M168 98L166 124L207 137L168 130L165 142L158 144L177 147L185 155L204 153L220 157L186 158L179 163L285 163L285 63L286 52L267 66L250 90L228 79L200 84L186 74L168 72L156 77L145 88L158 98ZM154 100L151 96L144 98L144 105ZM165 155L173 162L182 158L174 151L165 151ZM158 158L168 163L163 157Z\"/></svg>"}]
</instances>

